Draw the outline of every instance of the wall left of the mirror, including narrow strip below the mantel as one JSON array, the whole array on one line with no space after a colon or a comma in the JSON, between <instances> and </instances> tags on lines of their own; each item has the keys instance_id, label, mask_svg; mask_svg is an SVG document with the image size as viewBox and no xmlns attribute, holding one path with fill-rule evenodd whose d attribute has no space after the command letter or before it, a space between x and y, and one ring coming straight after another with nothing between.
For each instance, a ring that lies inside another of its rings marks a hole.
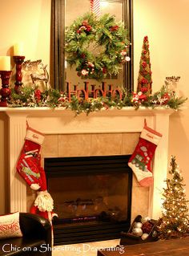
<instances>
[{"instance_id":1,"label":"wall left of the mirror, including narrow strip below the mantel","mask_svg":"<svg viewBox=\"0 0 189 256\"><path fill-rule=\"evenodd\" d=\"M43 63L50 63L50 0L1 1L0 16L2 22L0 55L12 56L14 43L23 42L26 59L42 59ZM12 58L11 64L14 69ZM0 214L7 212L8 200L6 127L7 118L0 113L0 194L2 195Z\"/></svg>"}]
</instances>

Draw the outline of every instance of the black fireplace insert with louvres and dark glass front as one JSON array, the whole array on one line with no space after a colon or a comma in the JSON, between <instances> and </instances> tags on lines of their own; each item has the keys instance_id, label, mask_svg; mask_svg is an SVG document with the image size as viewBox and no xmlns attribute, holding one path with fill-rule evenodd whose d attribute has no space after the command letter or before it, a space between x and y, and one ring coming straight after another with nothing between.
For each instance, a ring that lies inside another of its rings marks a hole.
<instances>
[{"instance_id":1,"label":"black fireplace insert with louvres and dark glass front","mask_svg":"<svg viewBox=\"0 0 189 256\"><path fill-rule=\"evenodd\" d=\"M45 158L54 245L120 238L131 225L130 156Z\"/></svg>"}]
</instances>

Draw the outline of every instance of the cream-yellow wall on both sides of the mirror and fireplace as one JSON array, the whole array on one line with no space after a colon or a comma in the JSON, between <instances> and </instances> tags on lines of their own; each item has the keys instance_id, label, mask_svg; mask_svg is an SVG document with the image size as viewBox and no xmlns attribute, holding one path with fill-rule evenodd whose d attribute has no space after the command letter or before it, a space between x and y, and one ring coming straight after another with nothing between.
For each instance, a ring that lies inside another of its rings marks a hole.
<instances>
[{"instance_id":1,"label":"cream-yellow wall on both sides of the mirror and fireplace","mask_svg":"<svg viewBox=\"0 0 189 256\"><path fill-rule=\"evenodd\" d=\"M143 36L148 35L153 72L153 91L159 90L166 76L180 75L179 90L189 95L189 1L187 0L134 0L134 47L135 47L135 86L139 72ZM12 55L14 43L23 42L26 59L42 59L49 63L50 55L50 0L1 1L0 16L1 42L0 55ZM187 106L188 106L187 102ZM6 151L4 130L6 116L0 115L0 193L5 195ZM6 123L6 124L5 124ZM189 199L189 111L175 112L171 116L170 156L175 155L183 170ZM5 198L5 197L3 197ZM6 201L6 200L5 200ZM5 201L0 201L0 213L6 211Z\"/></svg>"}]
</instances>

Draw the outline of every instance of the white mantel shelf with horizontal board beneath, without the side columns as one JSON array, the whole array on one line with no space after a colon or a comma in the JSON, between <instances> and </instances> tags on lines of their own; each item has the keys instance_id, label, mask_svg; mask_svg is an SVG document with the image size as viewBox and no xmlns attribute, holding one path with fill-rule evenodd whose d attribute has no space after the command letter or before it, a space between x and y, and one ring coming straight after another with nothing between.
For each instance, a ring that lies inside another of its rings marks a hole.
<instances>
[{"instance_id":1,"label":"white mantel shelf with horizontal board beneath, without the side columns","mask_svg":"<svg viewBox=\"0 0 189 256\"><path fill-rule=\"evenodd\" d=\"M75 116L75 112L65 108L1 108L1 110L11 118L15 116L23 118L25 116L30 126L34 126L46 134L141 132L144 118L147 118L149 126L155 128L160 125L154 124L158 116L166 118L174 112L172 109L165 108L139 108L135 110L133 107L127 107L121 110L108 109L91 112L88 116L83 112ZM40 117L37 124L34 120L36 116ZM50 126L42 122L44 118ZM62 122L64 123L63 131ZM162 124L161 122L161 126Z\"/></svg>"}]
</instances>

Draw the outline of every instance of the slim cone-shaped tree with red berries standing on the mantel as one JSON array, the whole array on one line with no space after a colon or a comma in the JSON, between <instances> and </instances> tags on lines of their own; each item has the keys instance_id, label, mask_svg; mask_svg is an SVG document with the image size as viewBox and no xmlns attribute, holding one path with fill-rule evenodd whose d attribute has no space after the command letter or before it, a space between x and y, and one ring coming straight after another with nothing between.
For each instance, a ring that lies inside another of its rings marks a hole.
<instances>
[{"instance_id":1,"label":"slim cone-shaped tree with red berries standing on the mantel","mask_svg":"<svg viewBox=\"0 0 189 256\"><path fill-rule=\"evenodd\" d=\"M142 91L145 88L147 95L151 94L151 62L150 62L150 51L147 36L143 39L143 50L139 63L139 77L137 92ZM143 91L144 92L144 91Z\"/></svg>"}]
</instances>

